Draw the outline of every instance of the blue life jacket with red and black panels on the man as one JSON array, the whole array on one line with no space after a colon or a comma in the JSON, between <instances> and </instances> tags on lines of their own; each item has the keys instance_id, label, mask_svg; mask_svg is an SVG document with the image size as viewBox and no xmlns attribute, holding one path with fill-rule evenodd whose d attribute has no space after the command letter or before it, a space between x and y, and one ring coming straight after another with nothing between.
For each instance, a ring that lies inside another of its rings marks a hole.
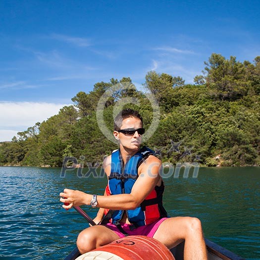
<instances>
[{"instance_id":1,"label":"blue life jacket with red and black panels on the man","mask_svg":"<svg viewBox=\"0 0 260 260\"><path fill-rule=\"evenodd\" d=\"M110 194L130 194L138 178L138 167L148 156L153 154L154 152L151 149L143 147L124 165L120 151L114 151L111 155L111 172L108 177ZM156 186L139 207L128 210L114 210L112 223L117 224L122 219L124 211L130 223L136 227L153 223L161 217L167 217L167 212L162 206L163 191L164 185L161 181L161 186Z\"/></svg>"}]
</instances>

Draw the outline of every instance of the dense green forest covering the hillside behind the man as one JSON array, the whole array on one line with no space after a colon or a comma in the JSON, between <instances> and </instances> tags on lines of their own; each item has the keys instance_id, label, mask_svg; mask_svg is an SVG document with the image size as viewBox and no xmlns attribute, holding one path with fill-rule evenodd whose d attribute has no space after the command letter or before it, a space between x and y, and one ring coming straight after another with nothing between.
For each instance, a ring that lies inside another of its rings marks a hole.
<instances>
[{"instance_id":1,"label":"dense green forest covering the hillside behind the man","mask_svg":"<svg viewBox=\"0 0 260 260\"><path fill-rule=\"evenodd\" d=\"M77 93L74 105L18 132L11 142L0 143L0 165L60 167L65 156L82 158L84 166L101 163L117 145L99 128L97 104L106 90L123 82L131 79L96 83L91 92ZM143 87L160 108L158 127L145 145L163 162L260 165L260 56L251 63L213 53L194 84L185 84L180 76L150 71ZM149 128L153 107L145 92L122 89L105 103L108 129L113 130L114 107L126 97L138 100L126 106L138 109Z\"/></svg>"}]
</instances>

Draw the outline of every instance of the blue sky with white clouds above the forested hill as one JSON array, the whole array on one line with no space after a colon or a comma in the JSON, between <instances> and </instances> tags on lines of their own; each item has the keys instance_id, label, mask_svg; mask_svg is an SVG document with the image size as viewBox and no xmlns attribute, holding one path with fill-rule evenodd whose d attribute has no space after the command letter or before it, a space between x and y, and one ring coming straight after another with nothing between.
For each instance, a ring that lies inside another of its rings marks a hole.
<instances>
[{"instance_id":1,"label":"blue sky with white clouds above the forested hill","mask_svg":"<svg viewBox=\"0 0 260 260\"><path fill-rule=\"evenodd\" d=\"M0 142L97 82L193 83L212 53L260 55L259 0L1 0Z\"/></svg>"}]
</instances>

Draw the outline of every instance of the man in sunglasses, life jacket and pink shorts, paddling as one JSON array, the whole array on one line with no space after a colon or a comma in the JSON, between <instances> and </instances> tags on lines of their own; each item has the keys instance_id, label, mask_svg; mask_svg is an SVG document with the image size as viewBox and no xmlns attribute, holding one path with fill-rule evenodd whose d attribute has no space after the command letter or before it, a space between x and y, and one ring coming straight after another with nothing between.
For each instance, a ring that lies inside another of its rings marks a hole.
<instances>
[{"instance_id":1,"label":"man in sunglasses, life jacket and pink shorts, paddling","mask_svg":"<svg viewBox=\"0 0 260 260\"><path fill-rule=\"evenodd\" d=\"M125 235L147 235L167 246L175 247L185 240L184 259L206 260L207 250L201 222L194 217L166 217L162 207L163 182L159 174L161 161L152 150L140 149L144 134L143 119L132 109L119 113L114 121L113 135L119 150L104 159L108 177L104 196L64 189L60 193L63 208L91 205L100 210L94 219L99 223L104 208L111 222L83 230L77 240L81 254L109 244ZM63 199L64 198L64 199ZM67 198L67 199L65 199ZM107 221L106 221L107 222Z\"/></svg>"}]
</instances>

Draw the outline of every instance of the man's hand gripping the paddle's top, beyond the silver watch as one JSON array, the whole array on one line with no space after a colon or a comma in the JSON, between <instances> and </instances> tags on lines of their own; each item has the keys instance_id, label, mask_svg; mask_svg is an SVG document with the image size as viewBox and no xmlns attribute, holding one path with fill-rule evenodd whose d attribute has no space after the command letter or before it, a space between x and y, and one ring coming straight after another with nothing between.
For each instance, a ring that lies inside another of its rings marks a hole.
<instances>
[{"instance_id":1,"label":"man's hand gripping the paddle's top, beyond the silver watch","mask_svg":"<svg viewBox=\"0 0 260 260\"><path fill-rule=\"evenodd\" d=\"M73 206L90 205L92 195L82 191L64 189L64 192L59 194L60 202L68 203L69 205L62 205L65 209L70 209ZM66 199L65 199L66 198Z\"/></svg>"}]
</instances>

